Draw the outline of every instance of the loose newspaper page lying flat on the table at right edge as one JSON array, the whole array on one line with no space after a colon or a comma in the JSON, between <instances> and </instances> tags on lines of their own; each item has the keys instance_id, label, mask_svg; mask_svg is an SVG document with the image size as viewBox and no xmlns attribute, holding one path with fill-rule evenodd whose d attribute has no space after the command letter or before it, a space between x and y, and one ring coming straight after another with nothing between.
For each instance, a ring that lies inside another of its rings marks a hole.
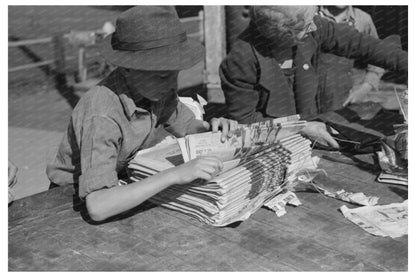
<instances>
[{"instance_id":1,"label":"loose newspaper page lying flat on the table at right edge","mask_svg":"<svg viewBox=\"0 0 416 277\"><path fill-rule=\"evenodd\" d=\"M398 238L407 235L407 200L383 206L340 208L342 214L365 231L375 236Z\"/></svg>"}]
</instances>

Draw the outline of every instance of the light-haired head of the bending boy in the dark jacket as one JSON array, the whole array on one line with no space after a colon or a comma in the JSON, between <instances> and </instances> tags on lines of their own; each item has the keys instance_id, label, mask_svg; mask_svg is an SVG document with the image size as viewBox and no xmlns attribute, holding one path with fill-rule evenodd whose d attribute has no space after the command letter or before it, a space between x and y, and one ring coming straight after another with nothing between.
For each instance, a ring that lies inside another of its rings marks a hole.
<instances>
[{"instance_id":1,"label":"light-haired head of the bending boy in the dark jacket","mask_svg":"<svg viewBox=\"0 0 416 277\"><path fill-rule=\"evenodd\" d=\"M251 19L264 37L289 47L316 30L316 10L316 6L252 6Z\"/></svg>"}]
</instances>

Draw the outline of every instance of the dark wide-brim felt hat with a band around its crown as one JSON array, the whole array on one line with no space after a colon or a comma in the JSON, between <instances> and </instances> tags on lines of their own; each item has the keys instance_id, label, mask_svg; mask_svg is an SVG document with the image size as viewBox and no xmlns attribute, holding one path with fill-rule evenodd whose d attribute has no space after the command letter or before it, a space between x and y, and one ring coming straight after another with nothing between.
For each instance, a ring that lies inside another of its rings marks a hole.
<instances>
[{"instance_id":1,"label":"dark wide-brim felt hat with a band around its crown","mask_svg":"<svg viewBox=\"0 0 416 277\"><path fill-rule=\"evenodd\" d=\"M116 66L147 71L187 69L204 56L204 47L187 37L172 6L138 6L123 12L99 51Z\"/></svg>"}]
</instances>

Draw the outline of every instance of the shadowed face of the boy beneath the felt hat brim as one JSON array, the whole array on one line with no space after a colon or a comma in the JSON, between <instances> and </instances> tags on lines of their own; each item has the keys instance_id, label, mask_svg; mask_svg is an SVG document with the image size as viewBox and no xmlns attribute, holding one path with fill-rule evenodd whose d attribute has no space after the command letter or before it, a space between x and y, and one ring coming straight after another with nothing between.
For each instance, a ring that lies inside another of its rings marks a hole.
<instances>
[{"instance_id":1,"label":"shadowed face of the boy beneath the felt hat brim","mask_svg":"<svg viewBox=\"0 0 416 277\"><path fill-rule=\"evenodd\" d=\"M179 71L143 71L123 68L132 96L140 94L151 101L159 101L178 88Z\"/></svg>"}]
</instances>

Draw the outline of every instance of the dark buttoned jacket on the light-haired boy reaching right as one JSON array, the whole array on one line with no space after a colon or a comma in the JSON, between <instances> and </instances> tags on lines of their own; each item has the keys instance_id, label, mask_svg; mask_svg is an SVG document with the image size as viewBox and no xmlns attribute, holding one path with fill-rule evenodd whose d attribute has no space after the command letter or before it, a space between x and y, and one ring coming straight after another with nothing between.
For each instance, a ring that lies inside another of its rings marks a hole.
<instances>
[{"instance_id":1,"label":"dark buttoned jacket on the light-haired boy reaching right","mask_svg":"<svg viewBox=\"0 0 416 277\"><path fill-rule=\"evenodd\" d=\"M341 24L315 16L317 30L297 46L293 59L293 89L271 52L273 44L254 24L240 34L220 66L228 116L252 123L299 113L310 119L318 113L319 53L333 53L407 74L407 52Z\"/></svg>"}]
</instances>

